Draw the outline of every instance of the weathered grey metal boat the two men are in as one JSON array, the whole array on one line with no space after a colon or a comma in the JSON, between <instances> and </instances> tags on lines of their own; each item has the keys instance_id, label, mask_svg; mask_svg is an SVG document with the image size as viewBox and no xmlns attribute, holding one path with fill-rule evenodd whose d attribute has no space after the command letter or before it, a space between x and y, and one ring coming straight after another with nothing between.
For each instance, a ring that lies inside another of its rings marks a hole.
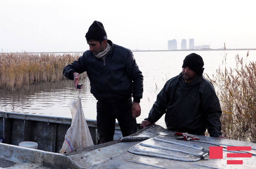
<instances>
[{"instance_id":1,"label":"weathered grey metal boat the two men are in","mask_svg":"<svg viewBox=\"0 0 256 169\"><path fill-rule=\"evenodd\" d=\"M94 145L60 154L58 152L71 125L71 118L0 112L0 137L4 139L4 143L0 143L0 167L256 168L254 143L206 136L187 141L177 139L175 131L156 124L143 130L138 124L138 132L122 138L116 123L115 140L98 144L96 121L86 122ZM24 141L36 142L37 149L19 146ZM215 150L210 149L212 147L222 147L222 151L218 151L222 158L210 158L209 154L216 154L211 152ZM249 147L250 150L229 150L230 147ZM235 164L237 161L242 164Z\"/></svg>"}]
</instances>

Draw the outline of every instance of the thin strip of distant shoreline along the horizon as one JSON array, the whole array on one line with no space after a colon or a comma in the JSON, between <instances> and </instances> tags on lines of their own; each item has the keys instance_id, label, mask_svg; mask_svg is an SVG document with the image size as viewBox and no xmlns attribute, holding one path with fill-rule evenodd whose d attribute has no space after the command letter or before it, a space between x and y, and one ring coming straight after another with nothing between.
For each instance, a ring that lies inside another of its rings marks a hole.
<instances>
[{"instance_id":1,"label":"thin strip of distant shoreline along the horizon","mask_svg":"<svg viewBox=\"0 0 256 169\"><path fill-rule=\"evenodd\" d=\"M132 52L172 52L172 51L223 51L224 49L186 49L186 50L131 50ZM226 51L256 50L256 48L226 49ZM24 52L3 52L3 53L24 53ZM84 53L83 52L26 52L26 53Z\"/></svg>"}]
</instances>

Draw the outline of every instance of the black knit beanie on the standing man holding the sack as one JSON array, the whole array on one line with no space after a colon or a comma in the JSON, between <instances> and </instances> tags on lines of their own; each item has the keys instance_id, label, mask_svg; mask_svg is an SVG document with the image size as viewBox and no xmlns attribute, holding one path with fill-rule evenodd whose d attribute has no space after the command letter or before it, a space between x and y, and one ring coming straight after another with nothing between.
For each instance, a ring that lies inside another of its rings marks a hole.
<instances>
[{"instance_id":1,"label":"black knit beanie on the standing man holding the sack","mask_svg":"<svg viewBox=\"0 0 256 169\"><path fill-rule=\"evenodd\" d=\"M99 21L94 21L92 25L89 27L89 30L85 35L85 38L97 40L107 39L107 33L104 29L103 24Z\"/></svg>"}]
</instances>

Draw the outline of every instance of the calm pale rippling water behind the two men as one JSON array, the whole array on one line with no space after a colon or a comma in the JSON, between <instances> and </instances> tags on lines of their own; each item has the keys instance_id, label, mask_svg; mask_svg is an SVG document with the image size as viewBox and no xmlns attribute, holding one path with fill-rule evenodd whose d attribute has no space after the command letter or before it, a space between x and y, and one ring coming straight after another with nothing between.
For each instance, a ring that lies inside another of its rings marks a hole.
<instances>
[{"instance_id":1,"label":"calm pale rippling water behind the two men","mask_svg":"<svg viewBox=\"0 0 256 169\"><path fill-rule=\"evenodd\" d=\"M166 80L181 72L183 60L190 53L193 52L133 52L134 58L144 76L144 92L140 102L141 115L137 118L138 123L148 116L148 112L156 100L156 93L163 88ZM219 67L224 67L223 51L196 51L195 53L203 57L204 73L209 76L215 74L216 69ZM236 66L236 54L245 59L247 51L229 51L227 53L227 67L234 68ZM256 50L249 51L247 60L256 60ZM71 80L59 83L31 84L14 93L0 90L0 111L71 118L68 103L79 96L82 97L85 117L96 120L97 101L90 93L89 80L85 79L80 83L84 84L80 96L79 91L74 88L74 82ZM164 117L158 121L158 124L165 127Z\"/></svg>"}]
</instances>

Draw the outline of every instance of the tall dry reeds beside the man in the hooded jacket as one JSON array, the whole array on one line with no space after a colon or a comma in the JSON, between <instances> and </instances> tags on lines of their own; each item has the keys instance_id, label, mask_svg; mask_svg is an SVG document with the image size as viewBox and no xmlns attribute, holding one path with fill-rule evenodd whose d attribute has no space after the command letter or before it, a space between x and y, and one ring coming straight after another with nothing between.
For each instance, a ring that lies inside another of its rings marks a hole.
<instances>
[{"instance_id":1,"label":"tall dry reeds beside the man in the hooded jacket","mask_svg":"<svg viewBox=\"0 0 256 169\"><path fill-rule=\"evenodd\" d=\"M247 63L249 51L243 57L235 56L236 67L216 70L208 79L215 86L222 108L222 134L230 139L256 143L256 63Z\"/></svg>"}]
</instances>

